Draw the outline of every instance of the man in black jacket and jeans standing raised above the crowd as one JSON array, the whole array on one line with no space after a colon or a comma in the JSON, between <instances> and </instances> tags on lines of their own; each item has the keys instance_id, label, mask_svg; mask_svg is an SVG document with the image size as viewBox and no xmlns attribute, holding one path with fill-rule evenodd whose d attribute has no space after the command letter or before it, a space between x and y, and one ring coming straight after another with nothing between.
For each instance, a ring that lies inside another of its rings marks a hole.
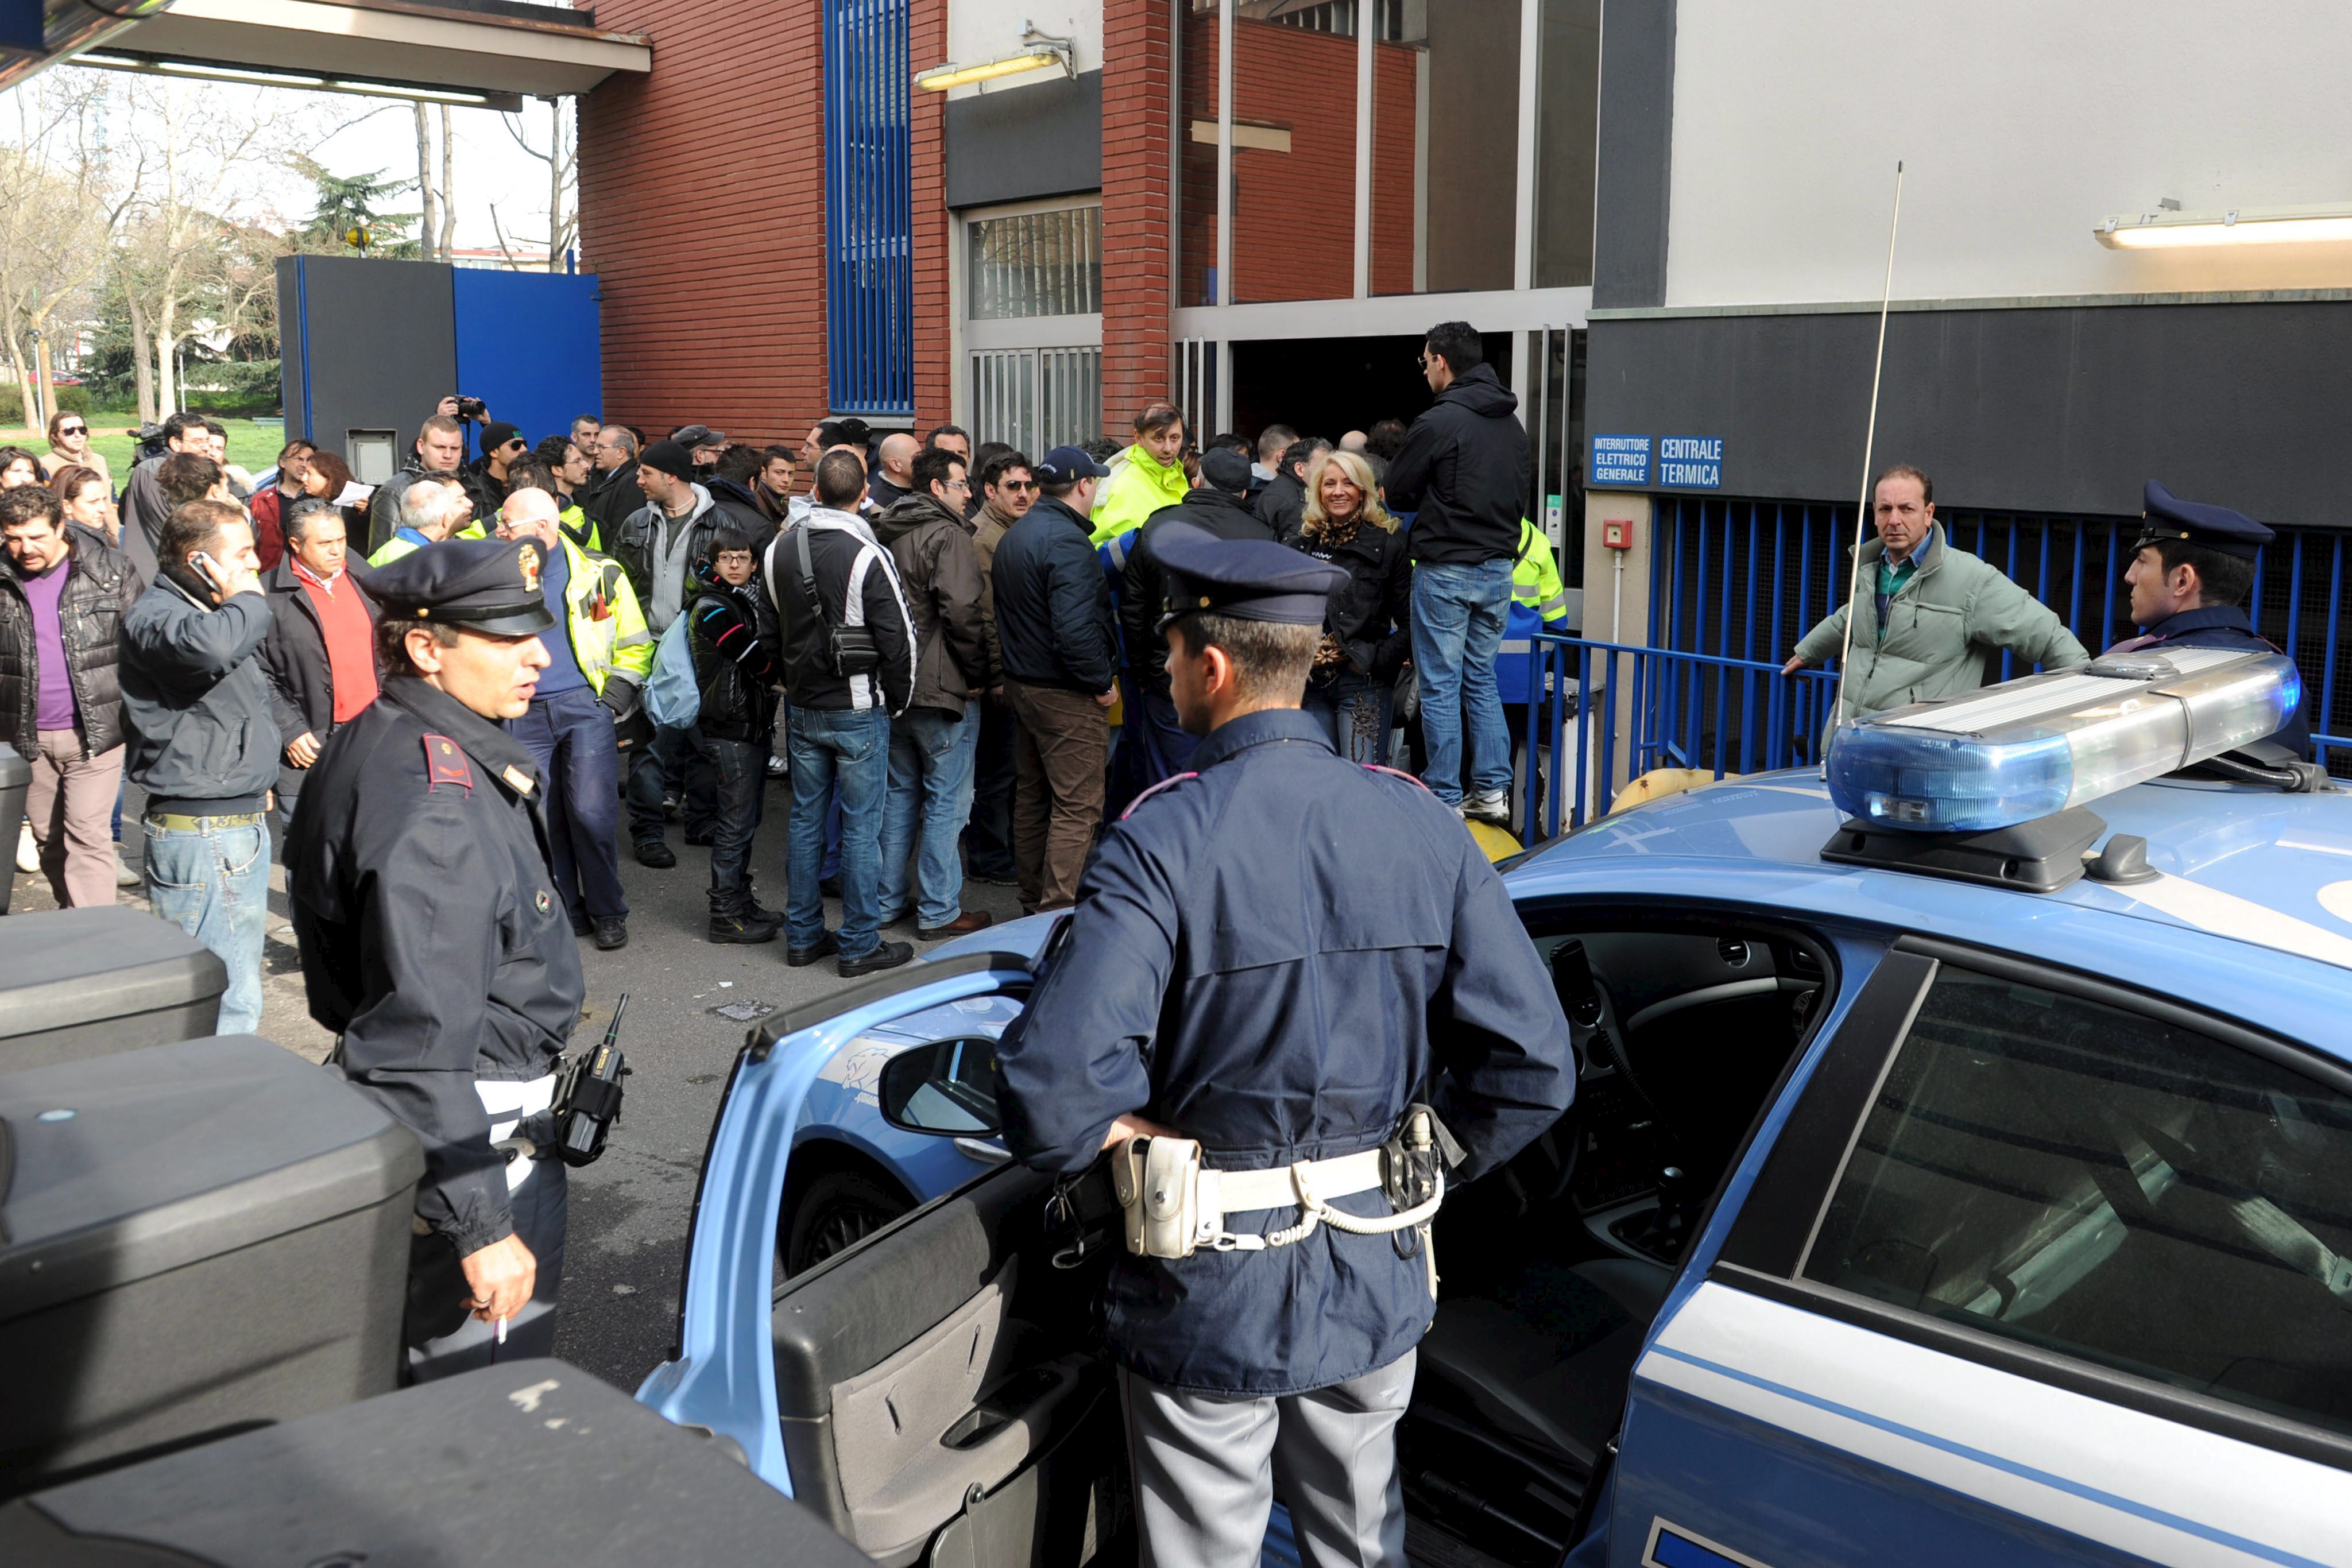
<instances>
[{"instance_id":1,"label":"man in black jacket and jeans standing raised above the crowd","mask_svg":"<svg viewBox=\"0 0 2352 1568\"><path fill-rule=\"evenodd\" d=\"M1414 675L1423 780L1463 816L1510 820L1510 731L1494 661L1526 512L1519 400L1484 362L1468 322L1437 322L1421 353L1437 402L1388 465L1388 505L1414 517ZM1470 755L1463 757L1468 719Z\"/></svg>"}]
</instances>

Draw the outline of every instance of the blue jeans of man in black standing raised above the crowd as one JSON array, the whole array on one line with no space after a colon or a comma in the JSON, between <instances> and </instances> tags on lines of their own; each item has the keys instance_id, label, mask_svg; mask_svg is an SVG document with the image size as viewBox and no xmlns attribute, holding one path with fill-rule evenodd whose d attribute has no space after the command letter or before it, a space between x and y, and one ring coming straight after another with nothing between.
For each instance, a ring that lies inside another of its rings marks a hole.
<instances>
[{"instance_id":1,"label":"blue jeans of man in black standing raised above the crowd","mask_svg":"<svg viewBox=\"0 0 2352 1568\"><path fill-rule=\"evenodd\" d=\"M1449 806L1461 806L1465 792L1510 790L1510 731L1494 686L1508 616L1508 557L1477 567L1414 567L1414 672L1421 679L1421 743L1430 757L1421 780Z\"/></svg>"}]
</instances>

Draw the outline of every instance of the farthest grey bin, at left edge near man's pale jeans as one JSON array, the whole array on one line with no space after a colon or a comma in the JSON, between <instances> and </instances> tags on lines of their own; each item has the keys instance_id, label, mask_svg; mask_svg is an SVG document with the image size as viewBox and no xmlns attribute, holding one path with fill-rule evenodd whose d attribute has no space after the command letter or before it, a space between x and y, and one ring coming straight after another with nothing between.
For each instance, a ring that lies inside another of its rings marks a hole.
<instances>
[{"instance_id":1,"label":"farthest grey bin, at left edge near man's pale jeans","mask_svg":"<svg viewBox=\"0 0 2352 1568\"><path fill-rule=\"evenodd\" d=\"M129 905L0 922L0 1072L212 1034L228 966Z\"/></svg>"}]
</instances>

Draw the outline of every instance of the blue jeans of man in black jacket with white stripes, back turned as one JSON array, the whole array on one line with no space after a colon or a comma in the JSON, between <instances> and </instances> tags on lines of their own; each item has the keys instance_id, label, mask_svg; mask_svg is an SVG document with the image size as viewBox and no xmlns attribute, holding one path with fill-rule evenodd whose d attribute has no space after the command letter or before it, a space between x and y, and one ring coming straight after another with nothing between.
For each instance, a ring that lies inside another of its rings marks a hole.
<instances>
[{"instance_id":1,"label":"blue jeans of man in black jacket with white stripes, back turned","mask_svg":"<svg viewBox=\"0 0 2352 1568\"><path fill-rule=\"evenodd\" d=\"M882 804L889 797L889 712L882 708L793 710L793 835L786 877L786 940L814 947L826 933L818 867L826 799L842 792L842 957L882 945Z\"/></svg>"}]
</instances>

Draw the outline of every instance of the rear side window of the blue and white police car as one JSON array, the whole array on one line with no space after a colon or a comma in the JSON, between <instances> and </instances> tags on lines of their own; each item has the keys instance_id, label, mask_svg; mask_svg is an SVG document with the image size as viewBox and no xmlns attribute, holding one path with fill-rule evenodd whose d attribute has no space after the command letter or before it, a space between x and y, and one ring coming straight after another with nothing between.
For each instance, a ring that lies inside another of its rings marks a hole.
<instances>
[{"instance_id":1,"label":"rear side window of the blue and white police car","mask_svg":"<svg viewBox=\"0 0 2352 1568\"><path fill-rule=\"evenodd\" d=\"M1804 1274L2352 1432L2347 1253L2352 1098L1947 964Z\"/></svg>"}]
</instances>

